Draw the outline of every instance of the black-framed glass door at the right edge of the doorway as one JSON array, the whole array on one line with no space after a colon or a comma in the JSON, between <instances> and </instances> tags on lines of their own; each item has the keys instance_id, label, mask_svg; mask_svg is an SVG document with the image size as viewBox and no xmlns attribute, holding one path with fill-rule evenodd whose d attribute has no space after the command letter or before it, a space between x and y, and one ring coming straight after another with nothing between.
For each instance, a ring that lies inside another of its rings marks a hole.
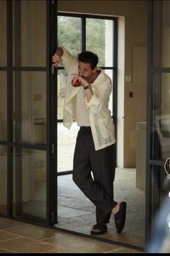
<instances>
[{"instance_id":1,"label":"black-framed glass door at the right edge of the doorway","mask_svg":"<svg viewBox=\"0 0 170 256\"><path fill-rule=\"evenodd\" d=\"M150 1L148 49L148 147L146 239L150 224L168 196L165 183L170 157L170 1Z\"/></svg>"}]
</instances>

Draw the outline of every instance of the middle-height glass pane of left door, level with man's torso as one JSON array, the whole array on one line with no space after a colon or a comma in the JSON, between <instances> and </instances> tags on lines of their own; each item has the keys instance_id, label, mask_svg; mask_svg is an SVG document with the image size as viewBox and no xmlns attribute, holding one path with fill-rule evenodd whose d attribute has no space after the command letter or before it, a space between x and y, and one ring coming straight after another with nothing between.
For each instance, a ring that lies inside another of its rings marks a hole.
<instances>
[{"instance_id":1,"label":"middle-height glass pane of left door, level with man's torso","mask_svg":"<svg viewBox=\"0 0 170 256\"><path fill-rule=\"evenodd\" d=\"M46 144L46 72L14 73L14 140Z\"/></svg>"}]
</instances>

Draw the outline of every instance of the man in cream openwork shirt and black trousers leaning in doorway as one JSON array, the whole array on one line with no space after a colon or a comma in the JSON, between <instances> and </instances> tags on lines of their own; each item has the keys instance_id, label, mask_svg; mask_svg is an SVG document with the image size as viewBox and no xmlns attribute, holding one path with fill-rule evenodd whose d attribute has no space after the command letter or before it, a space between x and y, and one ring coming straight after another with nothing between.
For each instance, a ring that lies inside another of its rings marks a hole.
<instances>
[{"instance_id":1,"label":"man in cream openwork shirt and black trousers leaning in doorway","mask_svg":"<svg viewBox=\"0 0 170 256\"><path fill-rule=\"evenodd\" d=\"M81 52L76 60L67 49L58 47L52 61L54 67L62 63L68 74L64 126L69 129L76 120L80 127L73 160L73 180L95 204L96 224L91 234L107 231L106 223L109 223L111 213L117 233L121 233L127 204L124 201L118 204L113 199L116 140L108 108L111 79L97 67L98 56L93 52ZM80 86L73 87L72 83L77 80Z\"/></svg>"}]
</instances>

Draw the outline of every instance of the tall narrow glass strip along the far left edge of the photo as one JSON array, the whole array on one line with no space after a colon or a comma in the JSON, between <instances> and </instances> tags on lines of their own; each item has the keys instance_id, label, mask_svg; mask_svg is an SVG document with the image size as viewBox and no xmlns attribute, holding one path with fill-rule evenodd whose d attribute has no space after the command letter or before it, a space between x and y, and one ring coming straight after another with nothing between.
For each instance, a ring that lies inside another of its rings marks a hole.
<instances>
[{"instance_id":1,"label":"tall narrow glass strip along the far left edge of the photo","mask_svg":"<svg viewBox=\"0 0 170 256\"><path fill-rule=\"evenodd\" d=\"M0 214L7 215L7 1L0 1Z\"/></svg>"}]
</instances>

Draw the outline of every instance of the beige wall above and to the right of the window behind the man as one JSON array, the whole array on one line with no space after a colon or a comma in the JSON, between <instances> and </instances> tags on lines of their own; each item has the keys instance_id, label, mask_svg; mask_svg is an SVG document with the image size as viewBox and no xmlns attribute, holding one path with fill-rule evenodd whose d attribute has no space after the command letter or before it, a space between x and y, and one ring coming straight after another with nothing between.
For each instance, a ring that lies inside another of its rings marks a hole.
<instances>
[{"instance_id":1,"label":"beige wall above and to the right of the window behind the man","mask_svg":"<svg viewBox=\"0 0 170 256\"><path fill-rule=\"evenodd\" d=\"M124 76L131 76L131 81L124 80L124 97L122 97L124 99L123 167L135 167L137 122L146 120L147 2L58 0L59 12L124 17ZM135 81L133 81L134 77ZM129 97L129 92L133 92L133 97Z\"/></svg>"}]
</instances>

